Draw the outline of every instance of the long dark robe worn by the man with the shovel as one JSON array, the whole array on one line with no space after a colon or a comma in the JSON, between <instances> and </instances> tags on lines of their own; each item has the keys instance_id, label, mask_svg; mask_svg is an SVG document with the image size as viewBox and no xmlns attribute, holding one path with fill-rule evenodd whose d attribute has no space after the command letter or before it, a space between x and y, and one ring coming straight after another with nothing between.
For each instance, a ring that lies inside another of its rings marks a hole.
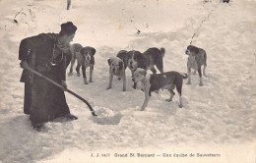
<instances>
[{"instance_id":1,"label":"long dark robe worn by the man with the shovel","mask_svg":"<svg viewBox=\"0 0 256 163\"><path fill-rule=\"evenodd\" d=\"M62 53L56 46L55 33L41 33L22 40L19 59L43 76L61 84L66 80L66 67L71 55ZM53 57L54 52L54 57ZM55 58L55 60L53 60ZM54 62L56 61L56 62ZM50 62L56 63L52 66ZM24 70L22 82L32 85L25 89L25 111L30 112L32 123L42 123L70 114L64 91L49 81ZM30 92L31 91L31 92Z\"/></svg>"}]
</instances>

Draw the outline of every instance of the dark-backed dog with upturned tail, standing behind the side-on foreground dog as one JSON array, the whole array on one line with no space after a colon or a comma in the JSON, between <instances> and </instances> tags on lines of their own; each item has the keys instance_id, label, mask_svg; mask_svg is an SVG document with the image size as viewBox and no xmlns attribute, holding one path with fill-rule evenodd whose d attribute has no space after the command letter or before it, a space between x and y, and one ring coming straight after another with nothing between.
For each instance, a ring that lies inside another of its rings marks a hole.
<instances>
[{"instance_id":1,"label":"dark-backed dog with upturned tail, standing behind the side-on foreground dog","mask_svg":"<svg viewBox=\"0 0 256 163\"><path fill-rule=\"evenodd\" d=\"M153 74L157 74L154 66L158 68L160 73L163 73L163 63L162 58L164 57L165 49L152 47L146 50L144 53L140 51L129 51L128 52L128 68L131 73L135 72L137 68L142 68L144 70L151 70ZM134 82L134 88L136 88L136 83Z\"/></svg>"}]
</instances>

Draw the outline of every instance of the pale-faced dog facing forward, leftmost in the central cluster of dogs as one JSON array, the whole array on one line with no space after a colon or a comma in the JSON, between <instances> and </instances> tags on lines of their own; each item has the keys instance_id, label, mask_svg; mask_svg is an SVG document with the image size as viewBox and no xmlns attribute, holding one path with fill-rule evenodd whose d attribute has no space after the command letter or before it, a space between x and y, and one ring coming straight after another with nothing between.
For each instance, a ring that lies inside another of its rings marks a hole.
<instances>
[{"instance_id":1,"label":"pale-faced dog facing forward, leftmost in the central cluster of dogs","mask_svg":"<svg viewBox=\"0 0 256 163\"><path fill-rule=\"evenodd\" d=\"M112 80L114 76L118 77L118 81L123 79L123 91L126 91L126 75L125 70L128 65L128 55L126 50L121 50L116 57L107 60L109 65L109 84L107 89L112 88Z\"/></svg>"}]
</instances>

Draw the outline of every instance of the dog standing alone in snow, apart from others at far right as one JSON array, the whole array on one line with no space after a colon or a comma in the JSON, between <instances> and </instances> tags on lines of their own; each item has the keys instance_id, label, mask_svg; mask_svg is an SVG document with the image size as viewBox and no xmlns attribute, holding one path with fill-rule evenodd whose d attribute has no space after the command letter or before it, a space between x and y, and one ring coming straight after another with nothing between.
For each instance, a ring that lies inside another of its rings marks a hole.
<instances>
[{"instance_id":1,"label":"dog standing alone in snow, apart from others at far right","mask_svg":"<svg viewBox=\"0 0 256 163\"><path fill-rule=\"evenodd\" d=\"M207 67L206 51L204 49L198 48L196 46L188 45L185 53L186 53L186 55L188 55L188 60L187 60L188 81L187 81L187 84L191 84L191 69L193 69L195 71L198 71L198 74L200 77L199 86L203 86L204 84L203 84L203 80L202 80L201 67L204 66L203 75L206 76L206 67Z\"/></svg>"}]
</instances>

